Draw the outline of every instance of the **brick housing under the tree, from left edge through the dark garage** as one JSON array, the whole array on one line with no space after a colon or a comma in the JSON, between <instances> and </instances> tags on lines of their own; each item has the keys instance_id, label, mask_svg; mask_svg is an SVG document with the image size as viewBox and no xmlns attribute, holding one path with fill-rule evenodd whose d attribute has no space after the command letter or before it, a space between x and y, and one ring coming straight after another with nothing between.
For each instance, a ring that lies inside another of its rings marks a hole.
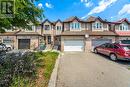
<instances>
[{"instance_id":1,"label":"brick housing under the tree, from left edge through the dark garage","mask_svg":"<svg viewBox=\"0 0 130 87\"><path fill-rule=\"evenodd\" d=\"M0 41L5 44L10 44L14 49L35 49L39 46L41 35L35 26L32 29L16 29L6 30L0 34ZM40 29L41 30L41 29Z\"/></svg>"}]
</instances>

